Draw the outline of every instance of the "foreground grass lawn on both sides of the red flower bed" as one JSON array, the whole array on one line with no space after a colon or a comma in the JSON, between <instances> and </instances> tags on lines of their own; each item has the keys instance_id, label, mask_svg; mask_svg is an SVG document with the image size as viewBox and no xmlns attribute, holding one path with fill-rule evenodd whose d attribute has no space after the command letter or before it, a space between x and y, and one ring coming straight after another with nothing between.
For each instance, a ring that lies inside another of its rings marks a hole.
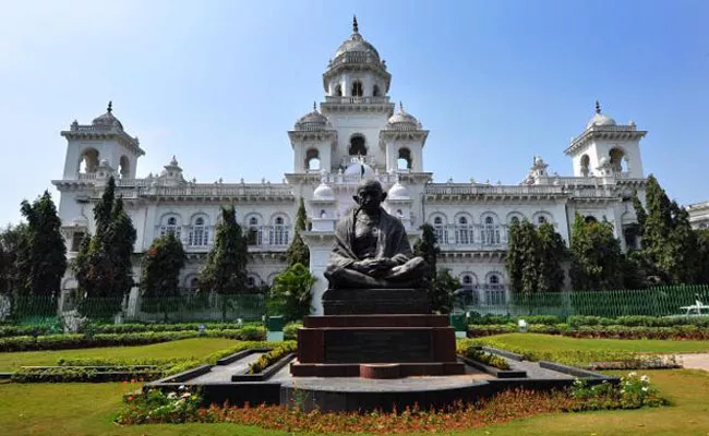
<instances>
[{"instance_id":1,"label":"foreground grass lawn on both sides of the red flower bed","mask_svg":"<svg viewBox=\"0 0 709 436\"><path fill-rule=\"evenodd\" d=\"M630 411L541 415L459 435L707 435L709 373L648 371L673 407ZM123 384L0 384L0 428L3 435L285 435L233 424L112 424Z\"/></svg>"}]
</instances>

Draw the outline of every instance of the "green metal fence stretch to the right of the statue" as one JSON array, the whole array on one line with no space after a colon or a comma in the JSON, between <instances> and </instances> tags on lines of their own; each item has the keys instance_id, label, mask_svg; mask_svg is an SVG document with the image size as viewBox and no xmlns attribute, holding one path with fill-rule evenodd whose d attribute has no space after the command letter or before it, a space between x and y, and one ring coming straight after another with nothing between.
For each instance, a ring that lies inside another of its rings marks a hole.
<instances>
[{"instance_id":1,"label":"green metal fence stretch to the right of the statue","mask_svg":"<svg viewBox=\"0 0 709 436\"><path fill-rule=\"evenodd\" d=\"M685 315L697 301L709 304L709 286L685 284L639 290L500 293L492 304L484 295L472 294L458 307L469 312L496 315ZM696 312L693 312L696 313ZM704 308L709 313L709 308Z\"/></svg>"}]
</instances>

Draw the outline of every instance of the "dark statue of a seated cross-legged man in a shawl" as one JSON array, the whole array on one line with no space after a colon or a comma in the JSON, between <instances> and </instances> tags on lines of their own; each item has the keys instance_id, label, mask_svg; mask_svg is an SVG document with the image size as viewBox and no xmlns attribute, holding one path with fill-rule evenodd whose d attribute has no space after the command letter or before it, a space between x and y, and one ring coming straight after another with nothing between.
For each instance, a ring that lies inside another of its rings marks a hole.
<instances>
[{"instance_id":1,"label":"dark statue of a seated cross-legged man in a shawl","mask_svg":"<svg viewBox=\"0 0 709 436\"><path fill-rule=\"evenodd\" d=\"M358 207L337 223L325 270L329 289L425 287L429 266L413 257L401 221L382 208L380 182L363 180L353 198Z\"/></svg>"}]
</instances>

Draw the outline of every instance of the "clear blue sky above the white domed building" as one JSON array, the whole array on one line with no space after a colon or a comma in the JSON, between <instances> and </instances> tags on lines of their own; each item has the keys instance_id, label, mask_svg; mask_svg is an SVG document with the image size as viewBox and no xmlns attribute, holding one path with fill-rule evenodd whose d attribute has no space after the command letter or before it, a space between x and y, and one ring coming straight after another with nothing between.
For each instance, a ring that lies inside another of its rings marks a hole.
<instances>
[{"instance_id":1,"label":"clear blue sky above the white domed building","mask_svg":"<svg viewBox=\"0 0 709 436\"><path fill-rule=\"evenodd\" d=\"M645 171L671 197L709 199L706 1L15 1L0 15L0 225L53 192L59 132L108 100L147 153L139 175L175 154L199 182L280 181L286 131L323 99L352 13L393 100L431 131L436 181L515 184L536 154L570 174L563 150L598 99L649 131Z\"/></svg>"}]
</instances>

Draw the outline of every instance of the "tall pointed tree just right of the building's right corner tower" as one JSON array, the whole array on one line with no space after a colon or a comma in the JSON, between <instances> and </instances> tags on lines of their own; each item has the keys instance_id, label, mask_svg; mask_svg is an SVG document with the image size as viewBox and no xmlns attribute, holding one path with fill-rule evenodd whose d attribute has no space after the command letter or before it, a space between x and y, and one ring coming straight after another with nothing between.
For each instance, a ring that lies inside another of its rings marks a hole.
<instances>
[{"instance_id":1,"label":"tall pointed tree just right of the building's right corner tower","mask_svg":"<svg viewBox=\"0 0 709 436\"><path fill-rule=\"evenodd\" d=\"M650 174L645 186L645 207L633 198L647 272L663 283L702 282L701 246L689 226L688 213L670 201Z\"/></svg>"}]
</instances>

